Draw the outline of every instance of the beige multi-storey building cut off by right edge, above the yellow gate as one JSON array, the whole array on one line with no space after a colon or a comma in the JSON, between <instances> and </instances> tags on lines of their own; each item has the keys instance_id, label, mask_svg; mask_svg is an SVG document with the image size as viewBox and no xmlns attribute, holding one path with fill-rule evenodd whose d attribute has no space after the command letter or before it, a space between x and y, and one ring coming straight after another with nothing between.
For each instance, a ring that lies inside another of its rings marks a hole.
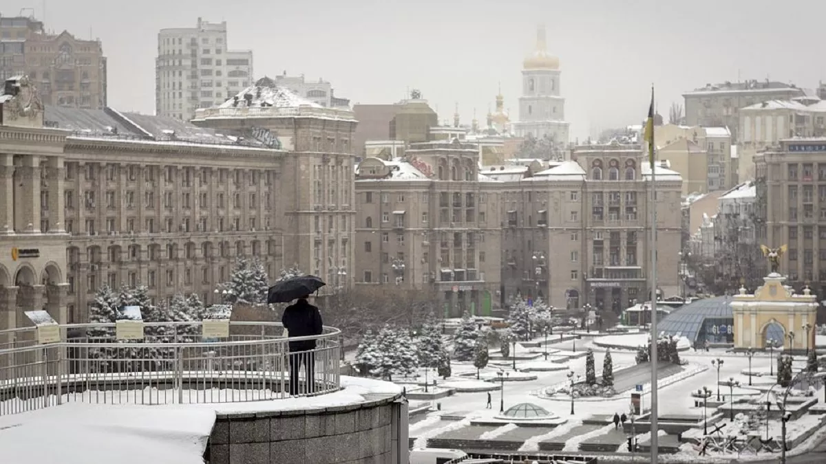
<instances>
[{"instance_id":1,"label":"beige multi-storey building cut off by right edge, above the yellow gate","mask_svg":"<svg viewBox=\"0 0 826 464\"><path fill-rule=\"evenodd\" d=\"M826 282L826 138L779 140L755 156L756 210L765 220L757 242L788 244L781 273L790 285L809 282L823 295ZM819 282L819 284L816 284Z\"/></svg>"}]
</instances>

